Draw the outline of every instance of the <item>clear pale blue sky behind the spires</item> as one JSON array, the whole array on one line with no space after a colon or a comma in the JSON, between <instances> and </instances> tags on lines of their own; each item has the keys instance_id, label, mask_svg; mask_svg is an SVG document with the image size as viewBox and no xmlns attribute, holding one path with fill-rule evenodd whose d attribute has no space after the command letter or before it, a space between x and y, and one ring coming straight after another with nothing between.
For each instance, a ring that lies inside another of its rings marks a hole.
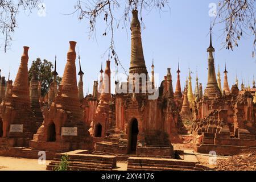
<instances>
[{"instance_id":1,"label":"clear pale blue sky behind the spires","mask_svg":"<svg viewBox=\"0 0 256 182\"><path fill-rule=\"evenodd\" d=\"M89 40L89 21L87 19L78 20L77 14L67 15L75 10L76 0L44 0L43 2L46 5L46 16L39 16L37 10L32 11L31 14L23 11L19 13L18 28L14 32L14 40L10 50L5 53L1 48L0 51L1 76L7 77L9 67L11 67L10 78L15 80L23 46L30 47L28 67L37 57L53 62L55 55L57 55L57 72L59 76L62 76L67 61L69 41L73 40L77 42L76 51L80 52L81 67L85 73L84 92L87 93L89 89L89 93L92 93L93 81L98 78L101 62L103 61L105 69L105 61L108 59L108 53L104 53L109 47L110 36L102 36L105 23L98 20L97 39ZM159 11L152 10L150 13L143 14L145 24L145 28L142 30L144 59L148 72L151 72L152 59L154 58L155 74L159 75L156 82L161 82L167 74L167 68L171 68L172 81L175 87L177 64L180 60L181 86L185 85L185 78L188 76L188 69L190 68L193 72L193 88L196 84L196 71L199 82L205 88L208 76L209 27L211 20L213 20L209 16L210 3L218 3L218 1L173 0L170 1L170 11L166 9L159 14ZM115 13L120 14L122 11L121 9ZM234 51L222 49L222 26L213 28L216 74L217 65L220 65L223 86L223 72L226 63L230 88L235 84L236 74L239 85L241 85L241 77L243 76L245 85L250 84L251 86L256 68L255 58L251 57L253 37L246 36L243 38L238 42L239 47ZM0 38L2 41L3 37L0 36ZM119 60L126 71L129 71L130 28L115 30L114 39ZM78 60L76 65L78 73ZM111 63L111 68L112 75L114 75L116 69L114 61ZM120 67L118 71L119 73L123 72ZM77 77L78 79L79 77ZM113 84L112 82L112 86Z\"/></svg>"}]
</instances>

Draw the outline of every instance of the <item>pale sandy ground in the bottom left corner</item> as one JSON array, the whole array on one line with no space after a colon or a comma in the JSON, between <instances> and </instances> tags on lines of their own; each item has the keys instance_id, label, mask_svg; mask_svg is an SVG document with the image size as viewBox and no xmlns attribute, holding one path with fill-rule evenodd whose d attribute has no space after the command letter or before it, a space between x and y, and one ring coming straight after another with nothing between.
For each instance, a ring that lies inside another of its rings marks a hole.
<instances>
[{"instance_id":1,"label":"pale sandy ground in the bottom left corner","mask_svg":"<svg viewBox=\"0 0 256 182\"><path fill-rule=\"evenodd\" d=\"M37 159L9 158L0 156L0 171L46 171L49 164L38 164Z\"/></svg>"}]
</instances>

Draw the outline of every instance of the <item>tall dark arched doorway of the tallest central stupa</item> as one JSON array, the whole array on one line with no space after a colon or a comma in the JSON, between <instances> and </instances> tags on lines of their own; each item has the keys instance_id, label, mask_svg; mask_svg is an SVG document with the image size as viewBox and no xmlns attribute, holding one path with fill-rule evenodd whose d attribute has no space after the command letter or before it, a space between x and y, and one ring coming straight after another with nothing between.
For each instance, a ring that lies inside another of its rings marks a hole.
<instances>
[{"instance_id":1,"label":"tall dark arched doorway of the tallest central stupa","mask_svg":"<svg viewBox=\"0 0 256 182\"><path fill-rule=\"evenodd\" d=\"M136 153L138 134L139 134L138 120L133 119L133 121L131 121L130 123L130 137L129 137L129 145L130 145L129 152L131 154Z\"/></svg>"}]
</instances>

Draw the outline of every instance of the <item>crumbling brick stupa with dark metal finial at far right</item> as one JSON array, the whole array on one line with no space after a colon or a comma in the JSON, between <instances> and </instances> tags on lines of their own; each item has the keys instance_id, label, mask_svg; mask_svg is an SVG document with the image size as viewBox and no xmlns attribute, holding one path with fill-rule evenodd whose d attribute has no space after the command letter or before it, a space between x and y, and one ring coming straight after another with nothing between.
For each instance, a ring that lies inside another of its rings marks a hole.
<instances>
[{"instance_id":1,"label":"crumbling brick stupa with dark metal finial at far right","mask_svg":"<svg viewBox=\"0 0 256 182\"><path fill-rule=\"evenodd\" d=\"M221 96L214 71L210 34L208 85L204 97L198 105L198 115L194 118L192 133L196 151L217 152L217 155L235 155L243 150L256 151L256 119L253 96L249 92L240 93L237 85L228 91L228 80ZM226 71L224 73L227 73Z\"/></svg>"}]
</instances>

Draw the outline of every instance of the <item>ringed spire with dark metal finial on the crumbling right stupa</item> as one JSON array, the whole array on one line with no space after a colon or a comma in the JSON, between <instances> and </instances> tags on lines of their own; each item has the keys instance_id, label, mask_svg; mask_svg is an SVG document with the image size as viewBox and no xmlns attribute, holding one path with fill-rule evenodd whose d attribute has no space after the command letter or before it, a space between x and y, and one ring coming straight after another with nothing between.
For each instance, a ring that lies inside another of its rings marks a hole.
<instances>
[{"instance_id":1,"label":"ringed spire with dark metal finial on the crumbling right stupa","mask_svg":"<svg viewBox=\"0 0 256 182\"><path fill-rule=\"evenodd\" d=\"M213 52L215 52L215 49L212 46L212 27L210 27L210 46L207 49L207 52L209 53L208 56L208 82L207 87L205 88L204 96L214 98L216 96L220 97L221 92L220 88L218 88L218 83L216 80L216 73L214 68L214 58L213 58Z\"/></svg>"}]
</instances>

